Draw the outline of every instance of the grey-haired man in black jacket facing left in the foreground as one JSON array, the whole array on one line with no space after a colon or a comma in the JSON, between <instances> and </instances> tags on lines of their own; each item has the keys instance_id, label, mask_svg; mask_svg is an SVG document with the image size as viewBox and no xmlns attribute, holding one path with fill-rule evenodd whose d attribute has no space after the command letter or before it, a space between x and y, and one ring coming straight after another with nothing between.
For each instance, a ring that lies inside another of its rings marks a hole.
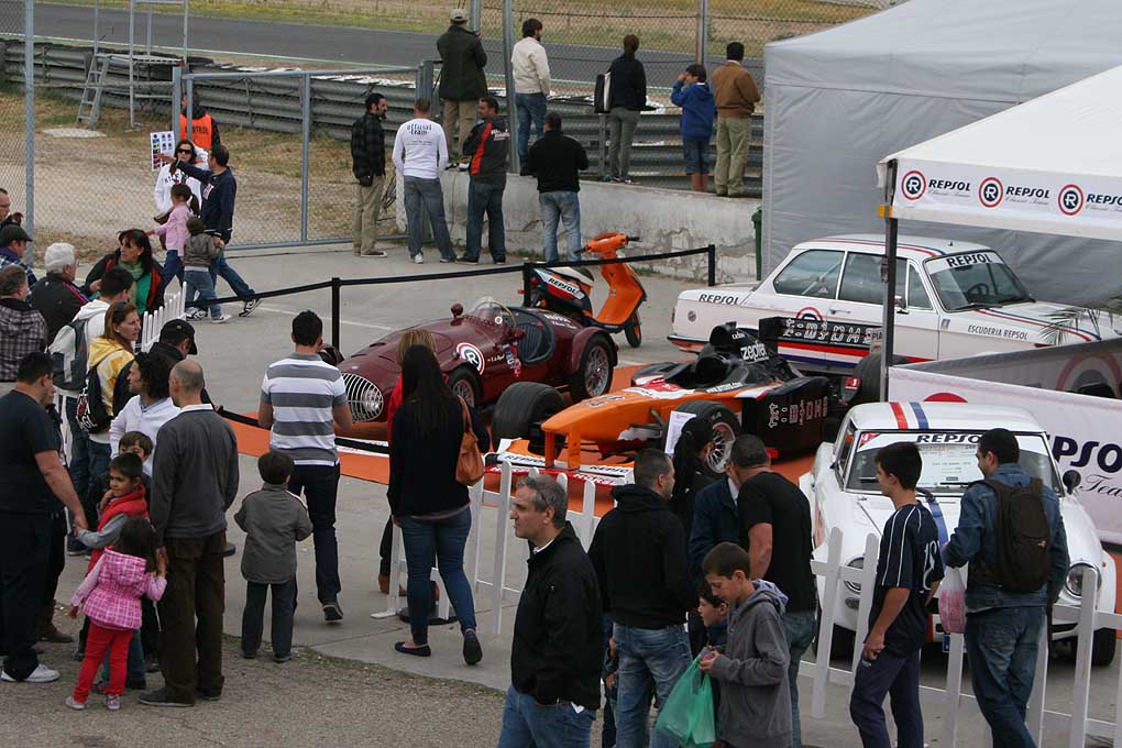
<instances>
[{"instance_id":1,"label":"grey-haired man in black jacket facing left in the foreground","mask_svg":"<svg viewBox=\"0 0 1122 748\"><path fill-rule=\"evenodd\" d=\"M511 645L500 748L588 748L600 707L600 592L565 521L569 497L548 477L518 483L514 534L530 542Z\"/></svg>"}]
</instances>

